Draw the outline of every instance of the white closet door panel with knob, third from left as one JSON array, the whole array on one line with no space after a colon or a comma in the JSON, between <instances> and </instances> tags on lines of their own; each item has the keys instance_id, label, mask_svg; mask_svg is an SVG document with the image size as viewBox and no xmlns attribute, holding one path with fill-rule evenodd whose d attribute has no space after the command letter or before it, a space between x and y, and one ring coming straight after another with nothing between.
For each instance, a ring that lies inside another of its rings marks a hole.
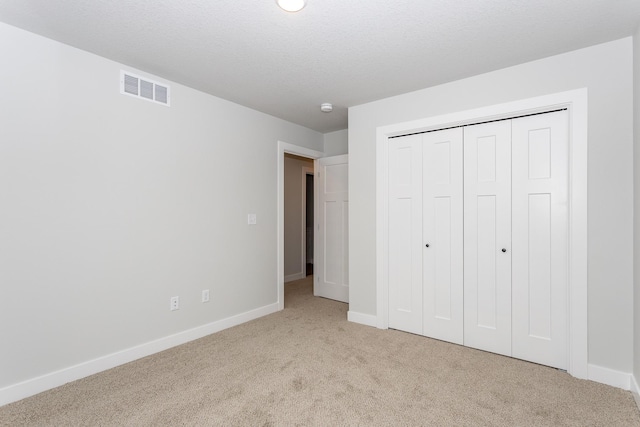
<instances>
[{"instance_id":1,"label":"white closet door panel with knob, third from left","mask_svg":"<svg viewBox=\"0 0 640 427\"><path fill-rule=\"evenodd\" d=\"M511 122L464 129L464 345L511 355Z\"/></svg>"}]
</instances>

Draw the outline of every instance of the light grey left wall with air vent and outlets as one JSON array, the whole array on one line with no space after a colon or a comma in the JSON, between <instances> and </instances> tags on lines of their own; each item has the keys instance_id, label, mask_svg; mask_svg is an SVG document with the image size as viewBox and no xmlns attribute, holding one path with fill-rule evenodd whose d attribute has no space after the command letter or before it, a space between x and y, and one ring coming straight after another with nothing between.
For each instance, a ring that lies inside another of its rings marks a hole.
<instances>
[{"instance_id":1,"label":"light grey left wall with air vent and outlets","mask_svg":"<svg viewBox=\"0 0 640 427\"><path fill-rule=\"evenodd\" d=\"M5 24L0 57L0 390L276 303L277 141L322 134Z\"/></svg>"}]
</instances>

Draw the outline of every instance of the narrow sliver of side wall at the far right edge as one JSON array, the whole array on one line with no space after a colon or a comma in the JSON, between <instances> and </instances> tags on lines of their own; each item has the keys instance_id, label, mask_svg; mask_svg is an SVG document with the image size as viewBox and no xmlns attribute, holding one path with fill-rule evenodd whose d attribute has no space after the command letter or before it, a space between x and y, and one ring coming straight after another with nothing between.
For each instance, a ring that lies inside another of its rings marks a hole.
<instances>
[{"instance_id":1,"label":"narrow sliver of side wall at the far right edge","mask_svg":"<svg viewBox=\"0 0 640 427\"><path fill-rule=\"evenodd\" d=\"M634 376L640 381L640 28L633 37L634 121ZM638 392L640 390L636 390ZM640 401L639 401L640 405Z\"/></svg>"}]
</instances>

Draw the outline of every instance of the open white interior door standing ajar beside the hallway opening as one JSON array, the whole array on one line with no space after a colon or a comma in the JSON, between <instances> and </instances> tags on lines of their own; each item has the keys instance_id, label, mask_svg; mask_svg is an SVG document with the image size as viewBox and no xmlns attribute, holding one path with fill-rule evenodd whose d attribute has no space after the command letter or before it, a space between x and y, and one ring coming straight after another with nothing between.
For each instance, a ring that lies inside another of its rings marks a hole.
<instances>
[{"instance_id":1,"label":"open white interior door standing ajar beside the hallway opening","mask_svg":"<svg viewBox=\"0 0 640 427\"><path fill-rule=\"evenodd\" d=\"M318 159L314 295L349 302L349 157Z\"/></svg>"}]
</instances>

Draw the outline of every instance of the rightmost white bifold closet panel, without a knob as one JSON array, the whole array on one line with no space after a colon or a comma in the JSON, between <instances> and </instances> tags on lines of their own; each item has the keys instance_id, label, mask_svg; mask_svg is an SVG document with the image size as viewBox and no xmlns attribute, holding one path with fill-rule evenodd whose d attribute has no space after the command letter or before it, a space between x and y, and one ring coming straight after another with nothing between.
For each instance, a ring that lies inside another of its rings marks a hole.
<instances>
[{"instance_id":1,"label":"rightmost white bifold closet panel, without a knob","mask_svg":"<svg viewBox=\"0 0 640 427\"><path fill-rule=\"evenodd\" d=\"M513 357L567 368L567 112L513 120Z\"/></svg>"}]
</instances>

